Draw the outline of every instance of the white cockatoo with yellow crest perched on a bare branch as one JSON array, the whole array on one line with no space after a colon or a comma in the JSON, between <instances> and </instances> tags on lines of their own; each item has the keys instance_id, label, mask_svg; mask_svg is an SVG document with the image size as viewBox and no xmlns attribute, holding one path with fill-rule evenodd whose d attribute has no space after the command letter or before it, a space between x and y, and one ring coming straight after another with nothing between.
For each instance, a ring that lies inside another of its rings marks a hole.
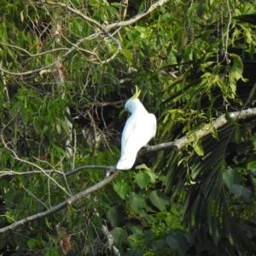
<instances>
[{"instance_id":1,"label":"white cockatoo with yellow crest perched on a bare branch","mask_svg":"<svg viewBox=\"0 0 256 256\"><path fill-rule=\"evenodd\" d=\"M121 140L121 157L117 163L118 170L128 170L134 165L137 152L146 146L156 132L156 118L148 113L142 102L138 99L141 90L125 103L125 109L131 113L125 123Z\"/></svg>"}]
</instances>

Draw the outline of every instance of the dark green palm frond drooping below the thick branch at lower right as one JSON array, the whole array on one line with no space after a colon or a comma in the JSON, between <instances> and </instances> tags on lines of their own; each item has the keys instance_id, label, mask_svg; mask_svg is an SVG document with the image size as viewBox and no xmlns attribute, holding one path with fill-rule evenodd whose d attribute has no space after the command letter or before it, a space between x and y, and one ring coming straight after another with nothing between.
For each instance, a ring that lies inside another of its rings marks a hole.
<instances>
[{"instance_id":1,"label":"dark green palm frond drooping below the thick branch at lower right","mask_svg":"<svg viewBox=\"0 0 256 256\"><path fill-rule=\"evenodd\" d=\"M218 131L218 140L212 136L205 137L202 141L204 156L171 152L165 155L166 161L160 166L166 166L166 193L175 198L185 191L183 224L196 230L196 239L203 241L206 249L207 244L213 241L218 245L218 253L227 255L256 252L254 242L230 216L226 201L223 166L233 130L234 126L226 125ZM187 160L177 166L184 155Z\"/></svg>"}]
</instances>

